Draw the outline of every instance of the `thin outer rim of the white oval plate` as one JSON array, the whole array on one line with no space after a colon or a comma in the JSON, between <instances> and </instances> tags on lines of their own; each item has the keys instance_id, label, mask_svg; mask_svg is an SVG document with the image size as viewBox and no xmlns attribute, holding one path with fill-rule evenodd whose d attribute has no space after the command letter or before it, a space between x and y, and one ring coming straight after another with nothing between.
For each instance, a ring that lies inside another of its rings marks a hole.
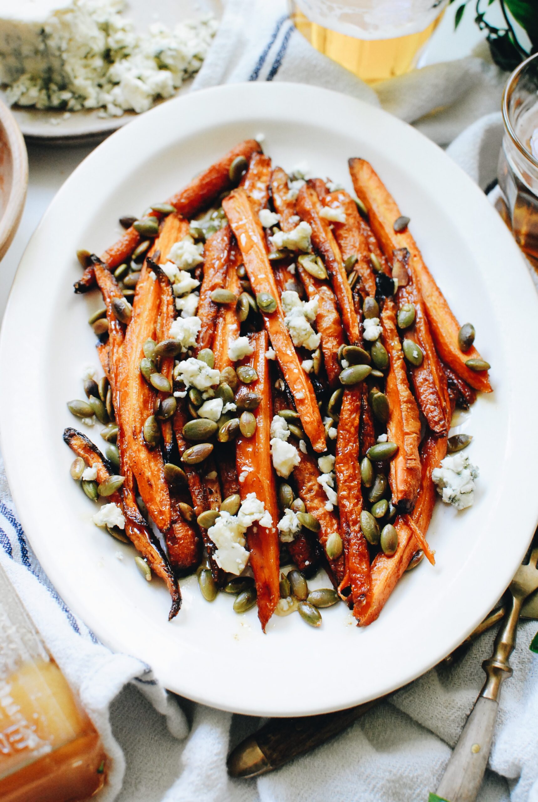
<instances>
[{"instance_id":1,"label":"thin outer rim of the white oval plate","mask_svg":"<svg viewBox=\"0 0 538 802\"><path fill-rule=\"evenodd\" d=\"M431 140L428 140L426 136L423 136L423 134L418 132L416 129L402 122L402 120L394 118L392 115L388 114L388 112L383 111L382 109L373 107L370 104L363 102L362 100L350 97L350 95L344 95L340 92L328 90L322 87L314 87L301 83L263 83L263 84L234 83L217 87L208 87L206 89L192 92L175 99L170 99L167 103L162 104L160 107L153 108L152 110L146 112L144 115L140 115L139 118L133 120L132 125L120 128L119 131L115 132L102 144L99 144L99 146L95 148L95 150L92 151L87 156L87 158L83 160L81 164L79 164L79 167L75 169L75 171L63 184L63 186L59 189L59 192L57 192L55 198L51 202L51 205L47 209L47 212L43 215L42 221L40 221L37 229L34 231L34 234L30 238L30 241L26 246L25 252L22 255L21 261L18 265L17 273L14 277L13 286L10 291L10 297L8 300L8 304L6 306L6 313L4 315L4 320L2 322L2 332L0 333L0 360L2 360L4 356L6 356L6 349L8 348L7 340L9 338L10 326L12 326L13 324L11 318L13 318L14 315L14 306L16 303L17 294L20 292L21 289L19 286L21 283L21 275L22 275L21 268L23 265L25 265L26 253L28 253L30 246L32 246L32 244L35 241L38 241L38 238L42 236L42 231L46 228L48 218L51 216L51 209L56 208L59 204L61 204L61 202L63 201L63 196L68 194L71 188L71 184L74 184L78 180L80 172L87 170L88 169L87 165L92 164L94 160L99 160L99 153L102 152L103 148L111 148L112 144L119 142L121 137L136 136L136 126L139 126L140 128L144 125L148 125L148 119L151 119L151 115L153 115L157 119L158 115L163 115L163 114L166 115L168 113L168 111L166 110L169 107L176 107L177 104L183 106L192 103L195 103L195 105L196 103L204 103L208 99L209 95L226 95L226 94L231 96L235 95L237 102L237 93L239 93L239 97L241 98L241 93L243 92L246 92L247 94L249 92L253 93L253 95L257 95L258 98L261 98L262 95L267 95L271 93L276 95L289 94L290 96L293 96L293 93L299 92L300 95L302 95L301 99L303 100L305 99L305 93L306 93L307 95L310 95L311 99L313 100L316 98L326 99L328 103L334 103L336 105L338 105L338 103L340 104L345 103L347 107L346 110L352 111L353 107L355 107L355 109L358 110L359 112L366 111L367 115L368 114L372 114L374 116L380 115L381 119L386 120L387 123L390 120L390 125L395 126L395 128L399 129L400 131L407 131L408 135L410 132L412 132L411 137L415 137L417 141L420 141L426 150L430 150L432 153L435 151L439 152L439 154L442 156L442 159L446 160L444 163L450 164L451 171L454 171L455 175L459 175L459 179L456 180L456 183L461 184L461 182L463 181L463 184L465 184L468 192L471 195L471 199L472 198L476 199L476 205L480 207L481 213L483 213L486 217L489 215L490 221L496 220L496 223L493 225L496 225L497 227L500 240L504 241L504 249L508 250L508 252L512 257L512 260L516 261L516 263L520 265L520 268L517 270L517 274L519 277L518 280L522 282L523 290L525 289L529 290L526 294L524 294L524 297L522 298L522 303L524 304L524 306L527 306L528 308L533 307L533 311L536 313L536 310L538 310L538 298L536 297L536 290L532 284L532 279L528 273L528 269L524 263L524 259L520 254L516 242L512 240L511 235L508 233L508 229L505 229L504 223L500 220L500 217L498 217L495 209L493 209L491 205L489 205L486 196L483 195L483 192L479 189L479 187L476 184L474 184L471 178L467 176L467 174L463 172L463 170L459 168L457 164L455 164L450 160L450 157L447 156L446 153L444 153L441 150L441 148L439 148ZM208 103L208 105L210 106L211 103ZM172 111L170 111L169 113L172 114ZM210 124L206 123L205 128L208 128L208 125ZM132 128L132 126L134 126L135 128ZM489 211L487 211L487 209L489 209ZM501 233L501 231L503 230L504 233ZM526 322L526 325L529 327L530 330L532 330L532 339L538 342L538 324L536 324L536 322L533 322L533 320L529 318L528 321ZM532 381L536 385L536 388L538 388L538 377L536 379L532 379ZM84 621L88 622L89 626L91 626L91 629L95 630L95 633L98 634L98 637L103 641L103 643L107 644L112 649L114 649L115 646L112 645L112 643L114 642L114 638L112 637L109 638L107 635L99 634L99 630L103 631L103 628L99 626L99 623L95 624L95 616L92 616L91 610L86 610L86 606L84 606L82 602L79 602L76 599L76 594L75 596L73 596L71 592L69 592L69 590L67 593L65 593L64 590L61 589L62 587L61 581L56 581L58 577L57 575L55 576L56 572L54 570L54 565L53 565L54 560L53 559L51 560L50 558L47 557L46 554L45 555L43 554L42 541L39 541L39 538L37 538L36 540L38 542L38 548L36 548L34 545L32 535L30 534L32 525L26 525L26 522L30 520L30 513L26 511L25 504L23 503L22 488L18 484L18 480L14 478L16 476L16 468L14 460L14 441L10 438L10 434L6 433L6 427L2 425L2 423L6 419L6 411L9 408L9 406L10 406L9 394L7 392L6 383L2 383L2 386L0 386L0 443L2 446L2 454L4 455L5 458L6 474L10 484L11 492L13 494L14 503L16 504L16 507L18 509L18 515L27 534L28 540L30 541L30 545L34 549L34 552L36 553L38 560L42 564L43 569L46 571L47 575L51 577L51 581L59 589L60 594L67 602L68 606L70 606L75 612L77 612L77 614L79 614ZM536 529L537 521L538 521L538 507L536 509L533 508L533 512L527 512L525 517L525 529L529 530L528 541L530 541L532 533L534 533ZM531 523L532 523L532 531L531 531ZM518 550L518 554L520 555L519 561L524 556L524 553L528 545L528 541L525 540L524 547L523 545L521 545L521 548ZM521 544L523 544L523 539L521 541ZM46 551L46 549L44 549L44 551ZM506 579L506 583L504 584L504 587L500 589L500 593L502 593L502 590L504 590L504 588L508 585L509 581L512 579L512 573L513 573L512 568L509 570L504 569L503 576ZM497 593L497 590L495 593L496 597L497 595L500 596L500 593ZM479 611L478 612L475 611L473 621L471 622L471 624L469 624L469 626L467 626L467 629L463 632L462 637L458 640L458 642L460 642L460 640L463 640L463 638L465 638L467 634L469 634L469 632L474 628L474 626L476 626L476 624L478 624L478 622L483 618L483 616L487 614L487 612L491 607L491 604L493 604L495 601L496 598L493 599L492 602L482 603L482 605L479 607ZM84 610L81 610L82 607L84 607ZM359 693L355 699L346 699L339 703L318 702L316 704L313 704L312 706L309 706L308 709L305 709L305 707L297 707L294 709L279 710L278 707L274 706L263 707L263 703L258 704L257 707L248 707L248 706L241 707L241 704L237 703L230 705L229 703L220 703L216 699L208 698L208 695L200 695L192 691L185 691L184 688L178 690L177 683L173 682L170 683L169 681L167 682L166 680L164 680L164 678L163 680L164 684L167 687L170 687L171 690L176 691L181 695L185 695L189 699L193 699L196 702L209 704L212 707L217 707L222 710L241 712L241 713L246 713L247 715L271 715L271 716L317 715L319 713L343 709L345 707L350 707L354 704L362 703L369 699L377 698L379 695L384 695L386 693L398 689L399 687L406 685L415 678L424 674L432 666L435 666L435 664L439 662L439 660L442 659L445 656L445 654L447 654L452 648L458 645L458 642L454 642L450 646L450 648L448 648L447 651L444 652L443 654L439 654L435 656L435 658L429 659L419 669L411 671L407 676L403 678L398 678L398 680L395 681L394 684L391 684L389 685L389 687L386 687L381 693L376 692L370 695L368 694L360 695ZM136 654L136 652L131 651L131 654ZM138 654L137 656L140 656L140 654ZM158 670L157 670L157 675L159 675Z\"/></svg>"}]
</instances>

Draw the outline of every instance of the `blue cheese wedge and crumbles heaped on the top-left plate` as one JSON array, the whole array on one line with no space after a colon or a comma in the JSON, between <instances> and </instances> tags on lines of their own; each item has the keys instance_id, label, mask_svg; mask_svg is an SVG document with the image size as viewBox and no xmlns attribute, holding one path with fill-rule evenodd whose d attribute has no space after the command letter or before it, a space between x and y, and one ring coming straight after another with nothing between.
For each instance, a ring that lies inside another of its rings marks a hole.
<instances>
[{"instance_id":1,"label":"blue cheese wedge and crumbles heaped on the top-left plate","mask_svg":"<svg viewBox=\"0 0 538 802\"><path fill-rule=\"evenodd\" d=\"M4 4L6 6L6 4ZM156 22L139 34L123 0L17 0L2 10L0 83L9 103L103 114L147 111L201 67L216 21Z\"/></svg>"}]
</instances>

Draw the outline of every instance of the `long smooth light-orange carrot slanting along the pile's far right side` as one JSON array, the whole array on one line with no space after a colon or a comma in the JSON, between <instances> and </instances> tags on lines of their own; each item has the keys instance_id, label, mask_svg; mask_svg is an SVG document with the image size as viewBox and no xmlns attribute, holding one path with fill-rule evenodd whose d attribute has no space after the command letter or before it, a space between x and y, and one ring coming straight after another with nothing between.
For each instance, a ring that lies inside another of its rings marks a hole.
<instances>
[{"instance_id":1,"label":"long smooth light-orange carrot slanting along the pile's far right side","mask_svg":"<svg viewBox=\"0 0 538 802\"><path fill-rule=\"evenodd\" d=\"M475 347L465 353L459 350L459 323L427 269L415 239L407 228L401 232L394 231L394 221L400 217L394 198L364 159L350 159L350 173L355 192L368 209L370 225L387 259L390 261L393 251L399 248L407 248L411 254L411 277L423 296L439 357L475 390L491 392L487 371L471 371L465 364L467 359L481 358L480 354Z\"/></svg>"}]
</instances>

